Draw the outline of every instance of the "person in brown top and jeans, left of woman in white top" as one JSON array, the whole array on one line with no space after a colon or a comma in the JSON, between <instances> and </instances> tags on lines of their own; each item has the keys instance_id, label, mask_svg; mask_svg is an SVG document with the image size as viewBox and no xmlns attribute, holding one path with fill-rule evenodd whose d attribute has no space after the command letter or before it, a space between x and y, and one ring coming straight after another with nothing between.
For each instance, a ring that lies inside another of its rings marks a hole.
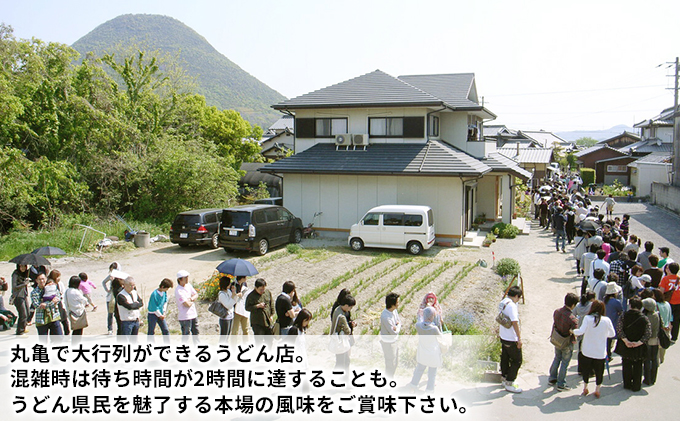
<instances>
[{"instance_id":1,"label":"person in brown top and jeans, left of woman in white top","mask_svg":"<svg viewBox=\"0 0 680 421\"><path fill-rule=\"evenodd\" d=\"M569 390L567 368L569 368L569 361L571 361L574 343L576 342L571 335L571 331L578 326L578 319L572 313L576 304L578 304L578 297L570 292L564 297L564 306L553 313L553 329L561 336L569 337L569 341L564 347L555 347L555 358L550 366L548 384L556 385L558 391Z\"/></svg>"}]
</instances>

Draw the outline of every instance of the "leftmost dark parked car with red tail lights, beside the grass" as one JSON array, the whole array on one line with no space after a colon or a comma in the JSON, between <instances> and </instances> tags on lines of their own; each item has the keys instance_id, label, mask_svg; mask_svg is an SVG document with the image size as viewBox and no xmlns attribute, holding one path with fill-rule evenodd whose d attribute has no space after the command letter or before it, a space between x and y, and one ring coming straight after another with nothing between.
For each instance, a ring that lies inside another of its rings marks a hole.
<instances>
[{"instance_id":1,"label":"leftmost dark parked car with red tail lights, beside the grass","mask_svg":"<svg viewBox=\"0 0 680 421\"><path fill-rule=\"evenodd\" d=\"M175 217L170 226L170 241L180 247L190 244L207 244L216 249L218 246L219 225L222 209L197 209L182 212Z\"/></svg>"}]
</instances>

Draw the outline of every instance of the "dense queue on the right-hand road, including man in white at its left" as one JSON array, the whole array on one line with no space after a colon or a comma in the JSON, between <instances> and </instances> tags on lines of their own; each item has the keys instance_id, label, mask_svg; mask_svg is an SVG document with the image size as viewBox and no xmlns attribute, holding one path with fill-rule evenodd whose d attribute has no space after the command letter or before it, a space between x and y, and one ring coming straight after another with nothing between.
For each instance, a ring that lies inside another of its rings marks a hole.
<instances>
[{"instance_id":1,"label":"dense queue on the right-hand road, including man in white at its left","mask_svg":"<svg viewBox=\"0 0 680 421\"><path fill-rule=\"evenodd\" d=\"M575 186L572 188L571 186ZM593 206L578 183L558 181L533 192L535 218L552 230L557 252L573 244L576 272L581 277L580 296L569 292L564 306L553 313L551 343L555 356L549 384L568 390L567 369L574 350L583 379L582 395L599 398L605 368L621 358L625 389L639 391L653 385L665 350L675 343L680 329L680 279L678 263L668 247L659 247L630 234L630 215L614 216L616 201L605 198L605 214ZM513 294L501 302L500 314L513 322L500 327L501 372L506 390L519 393L514 383L521 365L521 336ZM509 301L510 300L510 301ZM500 322L499 322L500 323ZM519 352L518 352L519 351Z\"/></svg>"}]
</instances>

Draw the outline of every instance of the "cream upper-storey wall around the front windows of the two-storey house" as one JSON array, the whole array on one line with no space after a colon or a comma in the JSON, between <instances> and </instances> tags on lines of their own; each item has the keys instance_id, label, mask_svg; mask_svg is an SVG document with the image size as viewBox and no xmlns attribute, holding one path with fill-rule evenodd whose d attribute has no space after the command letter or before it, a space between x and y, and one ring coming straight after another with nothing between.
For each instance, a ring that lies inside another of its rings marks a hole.
<instances>
[{"instance_id":1,"label":"cream upper-storey wall around the front windows of the two-storey house","mask_svg":"<svg viewBox=\"0 0 680 421\"><path fill-rule=\"evenodd\" d=\"M338 109L314 109L297 110L296 118L347 118L347 131L352 134L368 133L369 117L425 117L431 110L423 107L418 108L338 108ZM441 126L441 120L440 120ZM427 121L425 122L427 130ZM427 137L422 138L389 138L380 139L372 137L371 143L425 143ZM311 148L317 143L335 143L332 138L296 138L295 153L300 153Z\"/></svg>"}]
</instances>

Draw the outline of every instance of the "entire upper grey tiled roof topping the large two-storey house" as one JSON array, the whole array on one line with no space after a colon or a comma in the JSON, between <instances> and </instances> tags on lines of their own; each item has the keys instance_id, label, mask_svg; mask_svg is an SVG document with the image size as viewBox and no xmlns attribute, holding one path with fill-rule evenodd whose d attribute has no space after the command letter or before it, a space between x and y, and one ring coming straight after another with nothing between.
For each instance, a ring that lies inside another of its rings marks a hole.
<instances>
[{"instance_id":1,"label":"entire upper grey tiled roof topping the large two-storey house","mask_svg":"<svg viewBox=\"0 0 680 421\"><path fill-rule=\"evenodd\" d=\"M435 106L452 110L483 110L474 88L474 74L404 76L400 78L376 70L335 85L272 105L277 110L302 108ZM427 91L425 88L432 90ZM474 95L473 95L474 93ZM441 95L441 96L438 96Z\"/></svg>"}]
</instances>

